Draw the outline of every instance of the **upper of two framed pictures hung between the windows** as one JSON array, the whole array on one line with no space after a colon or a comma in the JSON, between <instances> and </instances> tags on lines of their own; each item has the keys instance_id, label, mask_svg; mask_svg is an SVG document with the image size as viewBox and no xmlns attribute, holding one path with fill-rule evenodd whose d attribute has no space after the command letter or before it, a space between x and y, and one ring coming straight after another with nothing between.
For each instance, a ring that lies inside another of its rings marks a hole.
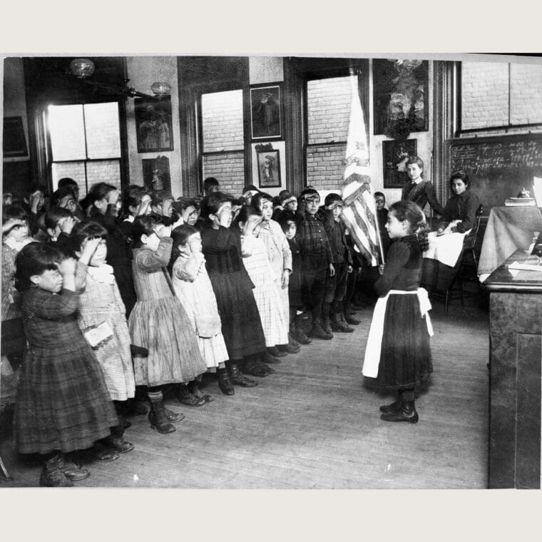
<instances>
[{"instance_id":1,"label":"upper of two framed pictures hung between the windows","mask_svg":"<svg viewBox=\"0 0 542 542\"><path fill-rule=\"evenodd\" d=\"M252 139L282 136L280 85L250 88L250 126Z\"/></svg>"}]
</instances>

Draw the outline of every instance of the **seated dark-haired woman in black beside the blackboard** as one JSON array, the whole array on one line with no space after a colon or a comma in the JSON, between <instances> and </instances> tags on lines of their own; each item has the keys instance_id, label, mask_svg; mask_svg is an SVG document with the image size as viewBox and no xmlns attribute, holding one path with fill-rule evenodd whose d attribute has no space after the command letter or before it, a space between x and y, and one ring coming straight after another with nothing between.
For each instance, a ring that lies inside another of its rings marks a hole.
<instances>
[{"instance_id":1,"label":"seated dark-haired woman in black beside the blackboard","mask_svg":"<svg viewBox=\"0 0 542 542\"><path fill-rule=\"evenodd\" d=\"M444 208L446 223L439 225L438 235L452 232L464 233L474 227L480 200L469 190L469 187L469 175L464 171L452 173L450 188L454 195L446 203Z\"/></svg>"}]
</instances>

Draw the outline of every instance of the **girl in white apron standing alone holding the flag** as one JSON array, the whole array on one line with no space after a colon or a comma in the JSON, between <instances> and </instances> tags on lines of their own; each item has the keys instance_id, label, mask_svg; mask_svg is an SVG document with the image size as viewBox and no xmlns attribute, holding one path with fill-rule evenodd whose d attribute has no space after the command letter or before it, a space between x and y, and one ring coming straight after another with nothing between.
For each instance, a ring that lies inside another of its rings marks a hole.
<instances>
[{"instance_id":1,"label":"girl in white apron standing alone holding the flag","mask_svg":"<svg viewBox=\"0 0 542 542\"><path fill-rule=\"evenodd\" d=\"M363 374L377 378L384 389L397 390L397 401L381 406L384 421L415 424L415 387L433 371L429 337L433 334L427 292L419 287L421 254L426 250L424 214L413 202L389 209L386 229L392 239L365 349Z\"/></svg>"}]
</instances>

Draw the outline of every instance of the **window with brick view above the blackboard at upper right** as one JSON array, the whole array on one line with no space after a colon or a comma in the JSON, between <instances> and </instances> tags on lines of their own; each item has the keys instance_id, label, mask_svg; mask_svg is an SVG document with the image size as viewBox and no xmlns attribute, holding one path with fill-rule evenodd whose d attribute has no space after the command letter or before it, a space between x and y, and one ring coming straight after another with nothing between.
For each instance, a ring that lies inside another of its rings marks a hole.
<instances>
[{"instance_id":1,"label":"window with brick view above the blackboard at upper right","mask_svg":"<svg viewBox=\"0 0 542 542\"><path fill-rule=\"evenodd\" d=\"M456 136L542 129L542 66L462 62L458 70Z\"/></svg>"}]
</instances>

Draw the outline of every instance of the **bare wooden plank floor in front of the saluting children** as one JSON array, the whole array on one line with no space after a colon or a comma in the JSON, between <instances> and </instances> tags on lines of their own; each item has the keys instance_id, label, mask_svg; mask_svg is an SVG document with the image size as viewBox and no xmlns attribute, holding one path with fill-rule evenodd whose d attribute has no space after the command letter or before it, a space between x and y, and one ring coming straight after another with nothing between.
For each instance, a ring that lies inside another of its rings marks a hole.
<instances>
[{"instance_id":1,"label":"bare wooden plank floor in front of the saluting children","mask_svg":"<svg viewBox=\"0 0 542 542\"><path fill-rule=\"evenodd\" d=\"M416 399L418 424L390 424L378 407L394 400L361 374L372 311L352 334L313 340L282 358L276 373L252 389L220 393L183 411L177 431L161 435L146 416L132 418L126 439L136 449L92 464L77 486L212 489L471 489L486 488L488 318L439 302L432 318L434 374ZM0 445L14 476L0 487L36 486L39 466L23 464L12 439ZM0 476L1 477L1 476Z\"/></svg>"}]
</instances>

